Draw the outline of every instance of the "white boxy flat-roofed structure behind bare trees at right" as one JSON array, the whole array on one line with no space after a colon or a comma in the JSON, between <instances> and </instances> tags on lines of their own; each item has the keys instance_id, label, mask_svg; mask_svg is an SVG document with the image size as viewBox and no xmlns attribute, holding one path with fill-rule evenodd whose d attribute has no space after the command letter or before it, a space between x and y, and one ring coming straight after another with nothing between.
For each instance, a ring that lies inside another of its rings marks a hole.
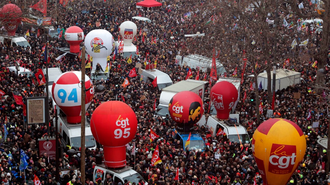
<instances>
[{"instance_id":1,"label":"white boxy flat-roofed structure behind bare trees at right","mask_svg":"<svg viewBox=\"0 0 330 185\"><path fill-rule=\"evenodd\" d=\"M254 75L249 75L249 77L254 77ZM287 69L276 69L276 83L275 89L285 89L293 84L300 84L301 73L296 71L291 71ZM271 87L273 88L273 71L271 71ZM262 85L263 89L267 89L267 72L260 73L258 75L258 87Z\"/></svg>"}]
</instances>

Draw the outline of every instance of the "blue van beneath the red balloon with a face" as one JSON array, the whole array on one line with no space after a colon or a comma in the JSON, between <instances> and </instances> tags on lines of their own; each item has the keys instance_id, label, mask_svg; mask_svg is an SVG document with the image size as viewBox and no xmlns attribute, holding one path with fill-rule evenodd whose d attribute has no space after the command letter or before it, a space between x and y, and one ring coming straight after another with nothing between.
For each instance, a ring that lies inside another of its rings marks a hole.
<instances>
[{"instance_id":1,"label":"blue van beneath the red balloon with a face","mask_svg":"<svg viewBox=\"0 0 330 185\"><path fill-rule=\"evenodd\" d=\"M182 144L182 148L184 148L184 149L186 148L184 146L188 140L189 133L181 133L177 129L173 129L172 136L174 139L177 139L178 141L180 141L180 143ZM189 147L189 150L201 149L202 151L204 151L206 148L206 145L205 145L204 140L201 135L199 135L198 133L191 133L190 144L187 147Z\"/></svg>"}]
</instances>

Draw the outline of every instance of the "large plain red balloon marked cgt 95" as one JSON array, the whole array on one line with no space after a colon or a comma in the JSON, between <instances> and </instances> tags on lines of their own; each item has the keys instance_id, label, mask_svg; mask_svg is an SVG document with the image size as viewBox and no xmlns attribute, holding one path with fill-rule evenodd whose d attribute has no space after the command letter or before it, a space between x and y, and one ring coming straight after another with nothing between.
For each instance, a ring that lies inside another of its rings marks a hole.
<instances>
[{"instance_id":1,"label":"large plain red balloon marked cgt 95","mask_svg":"<svg viewBox=\"0 0 330 185\"><path fill-rule=\"evenodd\" d=\"M90 120L92 134L103 145L105 165L126 166L126 144L135 136L138 120L124 102L107 101L98 106Z\"/></svg>"}]
</instances>

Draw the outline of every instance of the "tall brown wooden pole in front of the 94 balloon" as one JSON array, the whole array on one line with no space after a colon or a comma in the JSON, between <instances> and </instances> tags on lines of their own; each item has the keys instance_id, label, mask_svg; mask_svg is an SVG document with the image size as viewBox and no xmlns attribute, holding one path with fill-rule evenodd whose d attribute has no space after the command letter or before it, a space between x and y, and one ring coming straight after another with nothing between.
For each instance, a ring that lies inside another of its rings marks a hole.
<instances>
[{"instance_id":1,"label":"tall brown wooden pole in front of the 94 balloon","mask_svg":"<svg viewBox=\"0 0 330 185\"><path fill-rule=\"evenodd\" d=\"M80 150L80 174L81 174L81 182L85 183L85 46L82 47L82 122L81 122L81 150Z\"/></svg>"}]
</instances>

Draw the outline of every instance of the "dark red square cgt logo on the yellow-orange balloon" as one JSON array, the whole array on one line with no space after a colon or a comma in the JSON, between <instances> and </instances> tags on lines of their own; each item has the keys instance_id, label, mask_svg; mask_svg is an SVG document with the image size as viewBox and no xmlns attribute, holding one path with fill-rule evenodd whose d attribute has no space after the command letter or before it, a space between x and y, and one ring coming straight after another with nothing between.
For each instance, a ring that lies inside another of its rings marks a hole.
<instances>
[{"instance_id":1,"label":"dark red square cgt logo on the yellow-orange balloon","mask_svg":"<svg viewBox=\"0 0 330 185\"><path fill-rule=\"evenodd\" d=\"M296 157L296 146L273 144L269 156L268 171L277 174L290 173Z\"/></svg>"}]
</instances>

